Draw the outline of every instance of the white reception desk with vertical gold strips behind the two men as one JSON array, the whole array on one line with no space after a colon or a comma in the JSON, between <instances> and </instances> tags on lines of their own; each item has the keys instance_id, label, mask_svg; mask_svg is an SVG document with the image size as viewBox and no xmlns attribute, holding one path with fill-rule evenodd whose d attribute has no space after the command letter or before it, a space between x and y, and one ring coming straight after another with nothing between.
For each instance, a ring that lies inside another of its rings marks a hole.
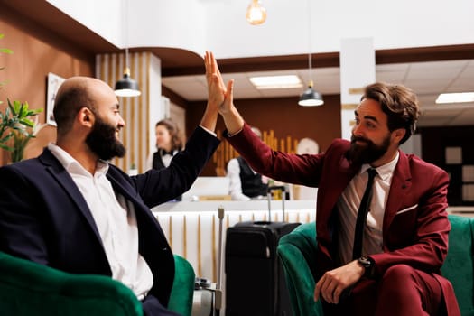
<instances>
[{"instance_id":1,"label":"white reception desk with vertical gold strips behind the two men","mask_svg":"<svg viewBox=\"0 0 474 316\"><path fill-rule=\"evenodd\" d=\"M316 219L315 200L285 200L287 222L307 223ZM224 209L222 219L222 260L226 229L239 221L268 220L268 201L181 201L168 202L153 208L173 253L185 257L197 276L216 282L218 277L218 209ZM282 200L272 200L271 220L282 221ZM224 266L224 265L222 265ZM222 268L223 271L223 268ZM222 273L222 277L225 277Z\"/></svg>"}]
</instances>

